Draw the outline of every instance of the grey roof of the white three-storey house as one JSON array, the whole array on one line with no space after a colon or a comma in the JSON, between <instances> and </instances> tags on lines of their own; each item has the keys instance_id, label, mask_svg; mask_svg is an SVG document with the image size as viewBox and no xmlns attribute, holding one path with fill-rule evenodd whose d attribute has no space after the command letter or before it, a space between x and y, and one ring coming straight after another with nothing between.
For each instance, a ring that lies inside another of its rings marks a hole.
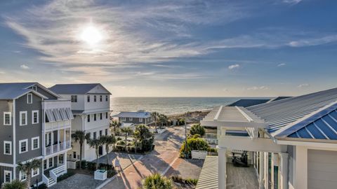
<instances>
[{"instance_id":1,"label":"grey roof of the white three-storey house","mask_svg":"<svg viewBox=\"0 0 337 189\"><path fill-rule=\"evenodd\" d=\"M100 85L100 83L57 84L49 89L58 94L88 94L97 85ZM103 87L103 85L101 86ZM111 93L107 90L106 94Z\"/></svg>"}]
</instances>

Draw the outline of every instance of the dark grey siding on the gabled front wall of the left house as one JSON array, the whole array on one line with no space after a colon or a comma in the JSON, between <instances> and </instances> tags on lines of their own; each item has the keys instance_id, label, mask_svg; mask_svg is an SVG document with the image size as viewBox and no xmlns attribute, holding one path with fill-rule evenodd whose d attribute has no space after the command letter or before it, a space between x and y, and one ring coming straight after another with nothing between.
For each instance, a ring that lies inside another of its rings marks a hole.
<instances>
[{"instance_id":1,"label":"dark grey siding on the gabled front wall of the left house","mask_svg":"<svg viewBox=\"0 0 337 189\"><path fill-rule=\"evenodd\" d=\"M16 99L15 102L15 130L16 130L16 162L22 162L37 158L42 155L42 116L41 116L41 97L33 94L32 104L27 104L27 94ZM39 123L32 124L32 111L39 111ZM27 125L20 126L20 111L27 111ZM39 148L32 151L32 138L39 137ZM19 141L28 140L28 151L19 153Z\"/></svg>"}]
</instances>

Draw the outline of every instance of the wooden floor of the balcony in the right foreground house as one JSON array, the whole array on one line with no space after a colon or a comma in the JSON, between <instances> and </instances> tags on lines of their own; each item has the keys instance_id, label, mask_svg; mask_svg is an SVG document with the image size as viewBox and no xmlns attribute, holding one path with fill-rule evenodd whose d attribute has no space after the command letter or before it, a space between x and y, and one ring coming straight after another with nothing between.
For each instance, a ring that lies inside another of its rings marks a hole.
<instances>
[{"instance_id":1,"label":"wooden floor of the balcony in the right foreground house","mask_svg":"<svg viewBox=\"0 0 337 189\"><path fill-rule=\"evenodd\" d=\"M227 163L227 189L258 189L258 177L251 167L234 167Z\"/></svg>"}]
</instances>

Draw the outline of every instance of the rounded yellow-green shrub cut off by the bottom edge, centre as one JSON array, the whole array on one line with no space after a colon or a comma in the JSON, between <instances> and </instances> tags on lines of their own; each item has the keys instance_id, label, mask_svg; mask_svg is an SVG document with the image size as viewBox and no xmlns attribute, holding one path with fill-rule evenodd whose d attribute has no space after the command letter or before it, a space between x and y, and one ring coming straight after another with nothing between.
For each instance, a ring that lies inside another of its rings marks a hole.
<instances>
[{"instance_id":1,"label":"rounded yellow-green shrub cut off by the bottom edge, centre","mask_svg":"<svg viewBox=\"0 0 337 189\"><path fill-rule=\"evenodd\" d=\"M173 182L171 179L167 179L165 176L161 176L160 174L153 174L151 176L147 176L143 180L143 189L172 189Z\"/></svg>"}]
</instances>

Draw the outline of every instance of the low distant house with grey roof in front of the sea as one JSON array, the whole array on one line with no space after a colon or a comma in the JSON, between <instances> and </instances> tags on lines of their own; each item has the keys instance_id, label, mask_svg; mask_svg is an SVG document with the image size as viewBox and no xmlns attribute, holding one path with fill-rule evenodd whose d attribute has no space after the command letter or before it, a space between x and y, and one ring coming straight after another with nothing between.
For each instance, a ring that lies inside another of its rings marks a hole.
<instances>
[{"instance_id":1,"label":"low distant house with grey roof in front of the sea","mask_svg":"<svg viewBox=\"0 0 337 189\"><path fill-rule=\"evenodd\" d=\"M151 113L148 111L122 111L112 117L118 118L120 123L133 123L133 125L150 125L153 123Z\"/></svg>"}]
</instances>

